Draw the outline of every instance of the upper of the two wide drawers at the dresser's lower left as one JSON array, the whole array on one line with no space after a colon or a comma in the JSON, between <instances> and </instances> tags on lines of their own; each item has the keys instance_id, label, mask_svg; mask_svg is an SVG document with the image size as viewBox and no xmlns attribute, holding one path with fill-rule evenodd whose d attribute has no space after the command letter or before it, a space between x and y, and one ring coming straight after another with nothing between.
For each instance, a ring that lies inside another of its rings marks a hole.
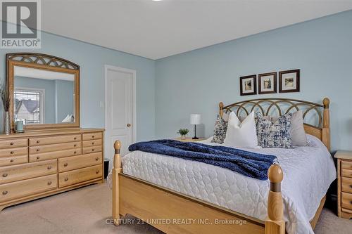
<instances>
[{"instance_id":1,"label":"upper of the two wide drawers at the dresser's lower left","mask_svg":"<svg viewBox=\"0 0 352 234\"><path fill-rule=\"evenodd\" d=\"M0 168L0 184L57 173L57 160L32 162Z\"/></svg>"}]
</instances>

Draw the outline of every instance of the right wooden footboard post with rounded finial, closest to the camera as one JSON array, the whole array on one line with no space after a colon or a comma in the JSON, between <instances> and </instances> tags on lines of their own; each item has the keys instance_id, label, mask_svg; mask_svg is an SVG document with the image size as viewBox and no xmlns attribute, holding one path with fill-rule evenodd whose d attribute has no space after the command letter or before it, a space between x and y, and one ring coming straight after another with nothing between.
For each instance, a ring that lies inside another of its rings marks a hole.
<instances>
[{"instance_id":1,"label":"right wooden footboard post with rounded finial, closest to the camera","mask_svg":"<svg viewBox=\"0 0 352 234\"><path fill-rule=\"evenodd\" d=\"M272 164L268 171L270 191L268 197L268 219L265 234L285 234L284 206L282 203L281 181L284 178L278 164Z\"/></svg>"}]
</instances>

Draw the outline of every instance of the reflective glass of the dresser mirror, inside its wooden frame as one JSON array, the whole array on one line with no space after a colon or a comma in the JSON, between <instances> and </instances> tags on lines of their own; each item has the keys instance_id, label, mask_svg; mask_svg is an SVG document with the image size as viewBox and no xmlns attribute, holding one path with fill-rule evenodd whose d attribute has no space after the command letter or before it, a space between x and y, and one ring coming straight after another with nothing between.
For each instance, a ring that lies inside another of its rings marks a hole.
<instances>
[{"instance_id":1,"label":"reflective glass of the dresser mirror, inside its wooden frame","mask_svg":"<svg viewBox=\"0 0 352 234\"><path fill-rule=\"evenodd\" d=\"M75 122L75 75L14 67L15 121L25 124Z\"/></svg>"}]
</instances>

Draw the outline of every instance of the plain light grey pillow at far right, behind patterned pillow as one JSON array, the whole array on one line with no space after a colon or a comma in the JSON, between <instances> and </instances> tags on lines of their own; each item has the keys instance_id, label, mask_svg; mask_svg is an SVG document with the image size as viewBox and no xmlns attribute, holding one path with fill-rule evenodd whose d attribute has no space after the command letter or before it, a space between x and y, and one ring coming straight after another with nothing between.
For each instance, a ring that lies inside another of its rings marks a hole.
<instances>
[{"instance_id":1,"label":"plain light grey pillow at far right, behind patterned pillow","mask_svg":"<svg viewBox=\"0 0 352 234\"><path fill-rule=\"evenodd\" d=\"M292 114L291 119L291 141L292 145L295 146L306 146L308 145L306 131L303 126L303 113L298 110Z\"/></svg>"}]
</instances>

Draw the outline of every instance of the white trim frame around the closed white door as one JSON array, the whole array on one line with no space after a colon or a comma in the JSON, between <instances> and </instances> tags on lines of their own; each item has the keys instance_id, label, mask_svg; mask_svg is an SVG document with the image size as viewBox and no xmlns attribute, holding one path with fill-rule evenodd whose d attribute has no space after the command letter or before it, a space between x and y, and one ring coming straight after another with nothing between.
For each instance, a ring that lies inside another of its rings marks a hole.
<instances>
[{"instance_id":1,"label":"white trim frame around the closed white door","mask_svg":"<svg viewBox=\"0 0 352 234\"><path fill-rule=\"evenodd\" d=\"M104 147L106 149L108 149L108 147L111 147L111 149L113 148L113 145L107 145L110 144L110 138L108 138L108 136L110 136L110 131L108 131L107 128L107 124L108 124L108 108L107 108L107 103L108 103L108 70L115 70L118 72L127 72L127 73L131 73L132 74L132 127L133 127L133 131L132 131L132 143L136 142L136 136L137 136L137 111L136 111L136 77L137 77L137 71L136 70L131 70L131 69L127 69L127 68L123 68L123 67L117 67L114 65L104 65L104 82L105 82L105 103L104 103L104 110L105 110L105 139L108 141L105 141L105 145ZM109 135L108 135L109 134ZM110 152L110 151L108 151ZM113 151L111 151L113 152ZM110 155L109 155L110 156ZM107 157L108 159L111 160L110 157ZM111 164L112 165L112 164Z\"/></svg>"}]
</instances>

